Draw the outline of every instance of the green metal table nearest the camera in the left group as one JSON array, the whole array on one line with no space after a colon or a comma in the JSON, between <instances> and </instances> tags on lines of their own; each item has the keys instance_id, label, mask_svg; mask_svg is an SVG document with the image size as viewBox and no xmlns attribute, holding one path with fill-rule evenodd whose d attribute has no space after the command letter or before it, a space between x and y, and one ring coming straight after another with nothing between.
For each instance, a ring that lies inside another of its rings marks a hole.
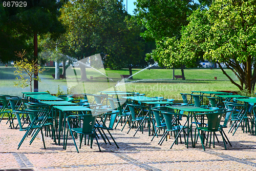
<instances>
[{"instance_id":1,"label":"green metal table nearest the camera in the left group","mask_svg":"<svg viewBox=\"0 0 256 171\"><path fill-rule=\"evenodd\" d=\"M64 119L64 133L63 133L63 148L65 148L65 135L66 135L66 116L68 112L74 111L74 112L81 112L81 111L93 111L92 109L88 107L83 106L53 106L54 108L59 110L59 129L58 129L58 145L60 145L60 132L62 128L62 120Z\"/></svg>"}]
</instances>

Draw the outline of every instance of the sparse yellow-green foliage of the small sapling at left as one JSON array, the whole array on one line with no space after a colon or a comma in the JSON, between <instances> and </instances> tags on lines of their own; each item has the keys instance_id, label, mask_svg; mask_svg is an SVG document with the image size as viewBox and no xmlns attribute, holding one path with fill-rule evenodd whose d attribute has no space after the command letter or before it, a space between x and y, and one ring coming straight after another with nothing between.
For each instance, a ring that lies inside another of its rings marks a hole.
<instances>
[{"instance_id":1,"label":"sparse yellow-green foliage of the small sapling at left","mask_svg":"<svg viewBox=\"0 0 256 171\"><path fill-rule=\"evenodd\" d=\"M42 68L40 65L37 65L37 60L32 60L32 62L28 61L28 59L24 58L25 55L25 50L23 52L17 53L18 58L21 58L22 60L16 61L14 63L14 67L16 68L14 74L19 76L19 78L16 77L14 85L20 86L22 88L30 86L30 91L32 91L32 81L41 81L39 77L33 77L34 73L42 73L43 71L45 71L45 68Z\"/></svg>"}]
</instances>

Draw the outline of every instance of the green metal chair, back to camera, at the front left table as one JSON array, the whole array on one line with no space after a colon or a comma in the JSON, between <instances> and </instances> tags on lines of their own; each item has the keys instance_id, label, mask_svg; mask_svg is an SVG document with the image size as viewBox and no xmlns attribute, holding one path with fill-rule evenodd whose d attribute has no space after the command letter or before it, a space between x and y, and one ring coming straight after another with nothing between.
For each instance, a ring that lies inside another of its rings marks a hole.
<instances>
[{"instance_id":1,"label":"green metal chair, back to camera, at the front left table","mask_svg":"<svg viewBox=\"0 0 256 171\"><path fill-rule=\"evenodd\" d=\"M75 147L76 147L76 151L77 153L79 153L77 145L76 145L76 141L75 141L75 137L74 134L79 134L80 135L80 146L79 148L81 148L81 144L82 144L82 139L83 139L83 135L88 135L90 139L90 147L92 148L92 144L93 144L93 139L95 138L97 141L97 145L99 148L99 151L101 151L100 146L99 146L99 142L97 139L97 136L95 134L95 122L97 119L96 114L91 114L91 115L71 115L68 117L68 131L67 131L67 137L66 137L66 143L65 143L65 149L67 149L67 141L68 141L68 133L70 132L72 139L74 141ZM77 120L80 120L82 123L81 127L71 127L71 122L72 120L75 118L77 118ZM86 140L86 137L84 138ZM84 144L86 144L86 141L84 141ZM88 144L89 144L89 140L88 140Z\"/></svg>"}]
</instances>

